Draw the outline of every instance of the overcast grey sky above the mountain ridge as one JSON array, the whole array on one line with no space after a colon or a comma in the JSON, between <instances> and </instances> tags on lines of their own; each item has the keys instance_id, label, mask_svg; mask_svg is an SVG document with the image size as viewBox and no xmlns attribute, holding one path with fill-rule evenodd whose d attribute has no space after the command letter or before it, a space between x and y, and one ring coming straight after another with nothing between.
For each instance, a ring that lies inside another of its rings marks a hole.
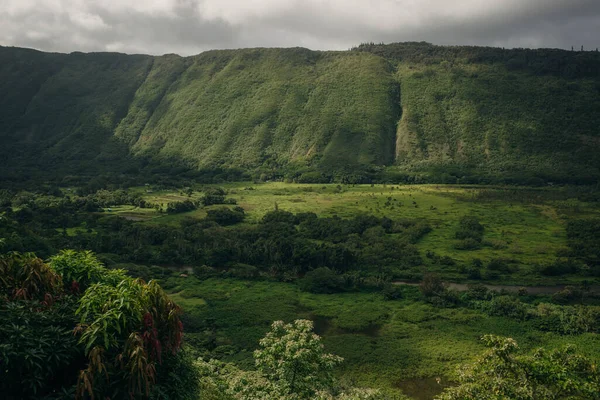
<instances>
[{"instance_id":1,"label":"overcast grey sky above the mountain ridge","mask_svg":"<svg viewBox=\"0 0 600 400\"><path fill-rule=\"evenodd\" d=\"M0 0L0 45L181 55L425 40L600 47L600 0Z\"/></svg>"}]
</instances>

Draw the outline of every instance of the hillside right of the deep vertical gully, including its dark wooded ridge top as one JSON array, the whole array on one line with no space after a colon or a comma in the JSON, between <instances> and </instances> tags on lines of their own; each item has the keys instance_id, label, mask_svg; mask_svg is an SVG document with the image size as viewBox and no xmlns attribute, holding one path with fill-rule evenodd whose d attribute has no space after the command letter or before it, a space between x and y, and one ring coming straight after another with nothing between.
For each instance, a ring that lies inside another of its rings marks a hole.
<instances>
[{"instance_id":1,"label":"hillside right of the deep vertical gully, including its dark wooded ridge top","mask_svg":"<svg viewBox=\"0 0 600 400\"><path fill-rule=\"evenodd\" d=\"M357 50L397 66L396 165L559 181L597 174L599 53L423 43Z\"/></svg>"}]
</instances>

